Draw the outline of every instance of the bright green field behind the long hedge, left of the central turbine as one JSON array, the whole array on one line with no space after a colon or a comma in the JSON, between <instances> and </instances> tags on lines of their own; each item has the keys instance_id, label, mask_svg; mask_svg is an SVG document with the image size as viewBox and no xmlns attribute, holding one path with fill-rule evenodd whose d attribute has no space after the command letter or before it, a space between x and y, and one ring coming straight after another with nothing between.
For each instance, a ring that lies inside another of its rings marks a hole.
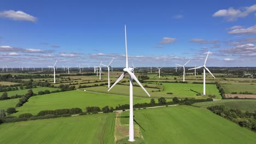
<instances>
[{"instance_id":1,"label":"bright green field behind the long hedge, left of the central turbine","mask_svg":"<svg viewBox=\"0 0 256 144\"><path fill-rule=\"evenodd\" d=\"M133 103L150 103L150 99L133 98ZM79 107L84 111L86 106L98 106L102 108L108 105L115 108L119 104L129 104L129 97L83 91L68 91L31 97L27 103L16 109L19 112L14 113L14 115L19 116L21 113L32 113L32 115L36 115L42 110L71 109L74 107Z\"/></svg>"}]
</instances>

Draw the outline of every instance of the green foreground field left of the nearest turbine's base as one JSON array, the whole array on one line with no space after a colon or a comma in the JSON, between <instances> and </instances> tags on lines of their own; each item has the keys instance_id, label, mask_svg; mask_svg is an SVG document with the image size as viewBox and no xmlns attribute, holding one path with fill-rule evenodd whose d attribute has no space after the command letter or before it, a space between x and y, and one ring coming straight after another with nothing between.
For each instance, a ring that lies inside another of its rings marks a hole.
<instances>
[{"instance_id":1,"label":"green foreground field left of the nearest turbine's base","mask_svg":"<svg viewBox=\"0 0 256 144\"><path fill-rule=\"evenodd\" d=\"M114 143L114 116L107 113L4 123L0 125L0 143Z\"/></svg>"}]
</instances>

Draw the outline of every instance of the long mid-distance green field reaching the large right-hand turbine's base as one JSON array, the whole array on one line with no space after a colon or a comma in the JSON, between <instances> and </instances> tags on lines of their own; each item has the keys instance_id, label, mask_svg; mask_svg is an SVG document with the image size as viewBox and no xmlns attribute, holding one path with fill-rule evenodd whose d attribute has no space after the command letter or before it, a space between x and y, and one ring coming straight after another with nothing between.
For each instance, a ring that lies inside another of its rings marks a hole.
<instances>
[{"instance_id":1,"label":"long mid-distance green field reaching the large right-hand turbine's base","mask_svg":"<svg viewBox=\"0 0 256 144\"><path fill-rule=\"evenodd\" d=\"M127 84L127 83L126 83ZM164 88L164 91L162 89L157 88L146 88L150 96L152 98L173 98L173 97L179 97L179 98L207 98L205 96L199 95L197 96L196 92L202 93L202 84L194 84L194 83L161 83L162 87ZM147 83L142 84L147 85ZM148 84L149 86L158 86L156 84ZM161 85L160 85L161 86ZM93 92L102 92L102 93L112 93L112 94L120 94L120 95L129 95L129 86L124 85L115 85L109 92L107 86L99 86L99 87L89 87L89 88L81 88L86 89L87 91L93 91ZM190 89L192 89L193 92ZM161 90L160 92L158 92ZM152 92L154 91L154 92ZM172 92L173 94L167 94ZM219 94L219 91L216 87L216 85L206 85L206 94L212 94L216 95L216 99L221 99L221 96ZM133 86L133 95L135 97L148 97L148 95L142 90L141 87L135 87Z\"/></svg>"}]
</instances>

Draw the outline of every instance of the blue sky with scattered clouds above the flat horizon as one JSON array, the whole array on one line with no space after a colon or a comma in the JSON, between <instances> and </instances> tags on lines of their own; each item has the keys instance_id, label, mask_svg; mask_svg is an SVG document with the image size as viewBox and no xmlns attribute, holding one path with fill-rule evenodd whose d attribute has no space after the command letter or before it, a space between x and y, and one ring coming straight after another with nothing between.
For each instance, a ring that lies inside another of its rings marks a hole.
<instances>
[{"instance_id":1,"label":"blue sky with scattered clouds above the flat horizon","mask_svg":"<svg viewBox=\"0 0 256 144\"><path fill-rule=\"evenodd\" d=\"M2 1L0 65L255 67L255 1Z\"/></svg>"}]
</instances>

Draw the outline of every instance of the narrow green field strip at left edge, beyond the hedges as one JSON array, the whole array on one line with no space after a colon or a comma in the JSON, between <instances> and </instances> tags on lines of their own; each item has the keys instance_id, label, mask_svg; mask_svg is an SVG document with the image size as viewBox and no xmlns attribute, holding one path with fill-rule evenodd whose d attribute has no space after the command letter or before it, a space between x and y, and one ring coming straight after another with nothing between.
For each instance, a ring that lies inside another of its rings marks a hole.
<instances>
[{"instance_id":1,"label":"narrow green field strip at left edge, beyond the hedges","mask_svg":"<svg viewBox=\"0 0 256 144\"><path fill-rule=\"evenodd\" d=\"M49 90L50 92L51 91L56 91L57 89L60 89L60 88L52 88L52 87L37 87L37 88L31 88L33 93L36 93L38 94L39 91L45 91L45 90ZM24 95L27 93L29 89L20 89L20 90L17 90L17 91L9 91L7 92L8 93L8 97L11 97L13 95ZM0 95L2 95L4 92L0 92Z\"/></svg>"}]
</instances>

